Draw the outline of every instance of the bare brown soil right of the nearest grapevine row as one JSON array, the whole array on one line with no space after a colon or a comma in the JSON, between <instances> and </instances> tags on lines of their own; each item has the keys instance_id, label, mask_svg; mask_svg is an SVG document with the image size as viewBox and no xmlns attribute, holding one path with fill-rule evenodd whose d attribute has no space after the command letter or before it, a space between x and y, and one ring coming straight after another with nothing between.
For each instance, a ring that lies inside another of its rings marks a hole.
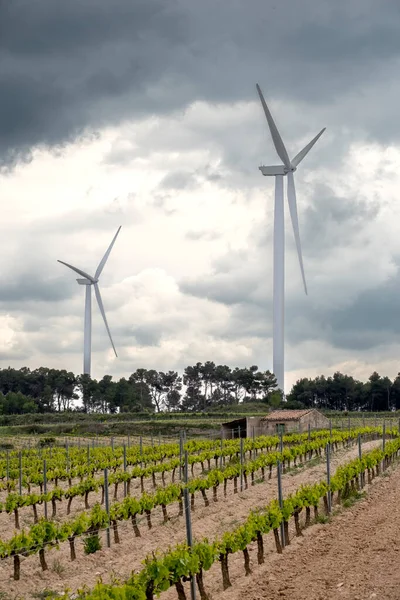
<instances>
[{"instance_id":1,"label":"bare brown soil right of the nearest grapevine row","mask_svg":"<svg viewBox=\"0 0 400 600\"><path fill-rule=\"evenodd\" d=\"M399 600L400 466L378 477L367 497L315 525L282 555L232 580L221 600ZM233 578L232 578L233 579Z\"/></svg>"}]
</instances>

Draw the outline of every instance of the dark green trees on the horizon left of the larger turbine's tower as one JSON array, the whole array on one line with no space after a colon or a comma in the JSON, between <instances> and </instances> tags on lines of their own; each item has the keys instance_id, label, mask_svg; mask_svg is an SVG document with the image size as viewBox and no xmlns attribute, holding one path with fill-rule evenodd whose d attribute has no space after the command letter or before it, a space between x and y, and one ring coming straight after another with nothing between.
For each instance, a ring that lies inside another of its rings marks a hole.
<instances>
[{"instance_id":1,"label":"dark green trees on the horizon left of the larger turbine's tower","mask_svg":"<svg viewBox=\"0 0 400 600\"><path fill-rule=\"evenodd\" d=\"M136 369L113 381L40 367L0 369L0 414L81 410L86 413L204 411L215 406L263 401L276 379L257 366L231 369L211 361L176 371ZM79 404L79 407L77 407Z\"/></svg>"}]
</instances>

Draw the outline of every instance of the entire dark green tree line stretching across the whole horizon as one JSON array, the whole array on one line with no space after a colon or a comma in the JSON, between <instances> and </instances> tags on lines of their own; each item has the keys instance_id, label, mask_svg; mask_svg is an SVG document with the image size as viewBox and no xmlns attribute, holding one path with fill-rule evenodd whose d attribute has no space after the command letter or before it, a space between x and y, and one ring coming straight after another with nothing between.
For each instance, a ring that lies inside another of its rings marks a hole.
<instances>
[{"instance_id":1,"label":"entire dark green tree line stretching across the whole horizon","mask_svg":"<svg viewBox=\"0 0 400 600\"><path fill-rule=\"evenodd\" d=\"M0 369L0 414L79 410L86 413L201 412L239 403L264 402L278 408L338 411L400 409L400 373L392 381L372 373L361 382L334 373L299 379L282 402L276 378L257 366L230 368L212 361L176 371L136 369L128 378L92 379L65 369Z\"/></svg>"}]
</instances>

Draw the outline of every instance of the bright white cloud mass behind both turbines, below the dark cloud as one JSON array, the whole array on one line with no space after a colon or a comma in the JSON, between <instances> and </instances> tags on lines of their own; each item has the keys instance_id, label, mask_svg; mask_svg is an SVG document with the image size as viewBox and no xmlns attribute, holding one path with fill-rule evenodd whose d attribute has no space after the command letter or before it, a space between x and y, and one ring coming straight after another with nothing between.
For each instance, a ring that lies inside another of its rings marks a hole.
<instances>
[{"instance_id":1,"label":"bright white cloud mass behind both turbines, below the dark cloud","mask_svg":"<svg viewBox=\"0 0 400 600\"><path fill-rule=\"evenodd\" d=\"M315 125L291 144L301 147ZM324 152L335 143L327 138ZM58 153L36 150L29 164L0 175L0 286L7 276L16 294L2 298L0 290L2 366L81 370L83 292L56 259L94 270L121 224L101 278L119 357L94 306L94 376L206 360L271 368L273 181L261 177L254 158L271 152L268 144L255 102L197 102L175 117L108 127ZM313 323L310 311L345 309L396 275L399 167L397 147L354 143L335 170L305 161L296 173L310 296L302 295L287 222L287 385L336 368L359 377L380 366L396 371L382 347L357 356L334 346L330 323ZM334 199L316 198L318 189ZM310 223L318 229L307 229ZM48 302L18 300L24 268L40 285L48 279ZM184 293L188 281L198 297ZM55 299L61 282L65 297ZM222 302L228 297L233 305Z\"/></svg>"}]
</instances>

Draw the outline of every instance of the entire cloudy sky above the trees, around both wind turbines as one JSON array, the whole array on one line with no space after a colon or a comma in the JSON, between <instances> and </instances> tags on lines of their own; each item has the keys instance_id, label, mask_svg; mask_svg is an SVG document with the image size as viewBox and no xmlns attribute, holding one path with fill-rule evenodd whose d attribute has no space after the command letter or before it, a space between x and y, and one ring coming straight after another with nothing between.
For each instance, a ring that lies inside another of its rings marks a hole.
<instances>
[{"instance_id":1,"label":"entire cloudy sky above the trees, around both wind turbines","mask_svg":"<svg viewBox=\"0 0 400 600\"><path fill-rule=\"evenodd\" d=\"M400 5L381 0L1 0L0 366L92 374L197 361L272 369L276 164L296 173L309 296L287 220L286 387L400 370ZM286 211L288 212L288 211ZM288 215L286 215L288 216Z\"/></svg>"}]
</instances>

